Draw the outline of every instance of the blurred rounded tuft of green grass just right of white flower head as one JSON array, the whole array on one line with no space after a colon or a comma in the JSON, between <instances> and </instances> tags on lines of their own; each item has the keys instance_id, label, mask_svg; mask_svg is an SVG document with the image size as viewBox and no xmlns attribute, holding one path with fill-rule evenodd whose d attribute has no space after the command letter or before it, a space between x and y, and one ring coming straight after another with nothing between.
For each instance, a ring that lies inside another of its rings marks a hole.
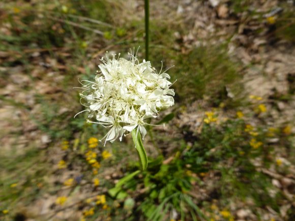
<instances>
[{"instance_id":1,"label":"blurred rounded tuft of green grass just right of white flower head","mask_svg":"<svg viewBox=\"0 0 295 221\"><path fill-rule=\"evenodd\" d=\"M201 99L206 95L218 104L227 98L226 86L234 94L241 92L239 65L225 49L226 45L200 46L178 57L173 79L178 79L175 88L181 98Z\"/></svg>"}]
</instances>

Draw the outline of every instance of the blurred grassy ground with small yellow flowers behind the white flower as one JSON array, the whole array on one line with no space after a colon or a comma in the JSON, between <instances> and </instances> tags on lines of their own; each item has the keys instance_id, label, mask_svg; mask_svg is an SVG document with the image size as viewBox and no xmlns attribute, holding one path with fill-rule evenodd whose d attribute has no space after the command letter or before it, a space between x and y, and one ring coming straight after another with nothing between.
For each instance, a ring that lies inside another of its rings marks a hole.
<instances>
[{"instance_id":1,"label":"blurred grassy ground with small yellow flowers behind the white flower","mask_svg":"<svg viewBox=\"0 0 295 221\"><path fill-rule=\"evenodd\" d=\"M0 2L0 218L294 220L295 8L150 1L150 60L177 81L144 139L103 147L78 79L138 47L144 2Z\"/></svg>"}]
</instances>

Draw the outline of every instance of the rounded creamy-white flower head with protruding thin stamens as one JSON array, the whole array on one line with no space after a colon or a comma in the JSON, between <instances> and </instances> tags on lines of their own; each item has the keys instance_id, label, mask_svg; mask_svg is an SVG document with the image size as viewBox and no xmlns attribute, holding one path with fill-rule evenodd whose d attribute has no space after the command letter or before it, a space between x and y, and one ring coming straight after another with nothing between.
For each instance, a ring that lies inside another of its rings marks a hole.
<instances>
[{"instance_id":1,"label":"rounded creamy-white flower head with protruding thin stamens","mask_svg":"<svg viewBox=\"0 0 295 221\"><path fill-rule=\"evenodd\" d=\"M94 81L82 81L80 97L86 102L87 121L110 128L103 138L105 143L118 137L121 141L134 129L143 139L146 120L174 105L174 91L167 80L170 76L158 73L150 61L140 63L136 55L129 55L130 60L126 60L120 54L117 58L106 54Z\"/></svg>"}]
</instances>

